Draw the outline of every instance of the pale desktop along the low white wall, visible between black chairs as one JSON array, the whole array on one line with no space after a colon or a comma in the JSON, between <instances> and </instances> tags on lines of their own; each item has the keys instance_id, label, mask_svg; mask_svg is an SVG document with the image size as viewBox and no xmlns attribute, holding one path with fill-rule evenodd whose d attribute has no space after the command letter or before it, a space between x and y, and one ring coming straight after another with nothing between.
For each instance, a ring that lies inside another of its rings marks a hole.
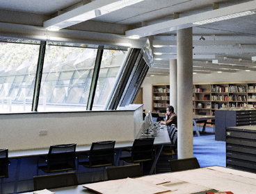
<instances>
[{"instance_id":1,"label":"pale desktop along the low white wall, visible between black chairs","mask_svg":"<svg viewBox=\"0 0 256 194\"><path fill-rule=\"evenodd\" d=\"M125 141L125 142L116 142L115 148L130 148L134 141ZM154 145L160 144L169 144L170 138L166 127L159 130L159 136L154 137ZM90 150L90 145L77 145L76 152L86 152ZM35 157L40 155L47 155L49 148L42 149L31 149L31 150L9 150L8 157L17 158L17 157Z\"/></svg>"}]
</instances>

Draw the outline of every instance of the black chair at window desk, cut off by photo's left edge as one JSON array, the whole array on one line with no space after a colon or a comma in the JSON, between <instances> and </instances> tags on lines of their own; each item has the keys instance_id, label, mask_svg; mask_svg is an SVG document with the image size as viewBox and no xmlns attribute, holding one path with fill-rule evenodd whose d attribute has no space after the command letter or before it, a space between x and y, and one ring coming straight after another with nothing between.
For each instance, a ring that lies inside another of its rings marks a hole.
<instances>
[{"instance_id":1,"label":"black chair at window desk, cut off by photo's left edge","mask_svg":"<svg viewBox=\"0 0 256 194\"><path fill-rule=\"evenodd\" d=\"M0 178L1 178L1 193L3 190L3 178L8 178L8 166L10 161L8 161L8 149L0 150Z\"/></svg>"}]
</instances>

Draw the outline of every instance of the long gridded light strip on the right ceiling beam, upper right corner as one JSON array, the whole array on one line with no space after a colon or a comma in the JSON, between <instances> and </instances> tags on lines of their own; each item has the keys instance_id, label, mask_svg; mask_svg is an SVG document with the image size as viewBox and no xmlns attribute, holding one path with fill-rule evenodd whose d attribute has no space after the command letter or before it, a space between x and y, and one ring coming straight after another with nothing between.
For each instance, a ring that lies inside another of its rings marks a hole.
<instances>
[{"instance_id":1,"label":"long gridded light strip on the right ceiling beam, upper right corner","mask_svg":"<svg viewBox=\"0 0 256 194\"><path fill-rule=\"evenodd\" d=\"M202 21L196 21L196 22L193 22L193 24L197 24L197 25L210 24L210 23L214 23L216 21L223 21L223 20L227 20L227 19L243 17L243 16L246 16L246 15L253 15L255 13L256 12L254 12L254 11L237 12L237 13L234 13L234 14L224 15L224 16L221 16L221 17L214 17L214 18L211 18L211 19L205 19L205 20L202 20Z\"/></svg>"}]
</instances>

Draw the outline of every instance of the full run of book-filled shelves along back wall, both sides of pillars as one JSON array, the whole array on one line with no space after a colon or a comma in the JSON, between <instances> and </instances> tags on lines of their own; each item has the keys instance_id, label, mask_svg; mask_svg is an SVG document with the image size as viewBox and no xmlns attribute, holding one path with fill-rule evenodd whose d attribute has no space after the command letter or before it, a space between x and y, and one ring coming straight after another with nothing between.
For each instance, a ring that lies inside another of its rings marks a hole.
<instances>
[{"instance_id":1,"label":"full run of book-filled shelves along back wall, both sides of pillars","mask_svg":"<svg viewBox=\"0 0 256 194\"><path fill-rule=\"evenodd\" d=\"M152 112L166 112L170 103L169 85L152 85ZM223 107L256 109L256 82L195 83L193 113L211 115Z\"/></svg>"}]
</instances>

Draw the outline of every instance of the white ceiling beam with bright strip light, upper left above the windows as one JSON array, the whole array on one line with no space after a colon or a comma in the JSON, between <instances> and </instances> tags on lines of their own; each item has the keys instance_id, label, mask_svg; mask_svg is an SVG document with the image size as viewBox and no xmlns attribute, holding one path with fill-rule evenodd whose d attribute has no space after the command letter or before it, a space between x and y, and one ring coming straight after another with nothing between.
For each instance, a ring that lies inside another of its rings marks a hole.
<instances>
[{"instance_id":1,"label":"white ceiling beam with bright strip light, upper left above the windows","mask_svg":"<svg viewBox=\"0 0 256 194\"><path fill-rule=\"evenodd\" d=\"M87 3L79 8L74 8L68 12L58 15L44 22L44 28L67 28L82 21L87 21L99 17L115 10L120 10L135 3L145 0L97 0Z\"/></svg>"}]
</instances>

